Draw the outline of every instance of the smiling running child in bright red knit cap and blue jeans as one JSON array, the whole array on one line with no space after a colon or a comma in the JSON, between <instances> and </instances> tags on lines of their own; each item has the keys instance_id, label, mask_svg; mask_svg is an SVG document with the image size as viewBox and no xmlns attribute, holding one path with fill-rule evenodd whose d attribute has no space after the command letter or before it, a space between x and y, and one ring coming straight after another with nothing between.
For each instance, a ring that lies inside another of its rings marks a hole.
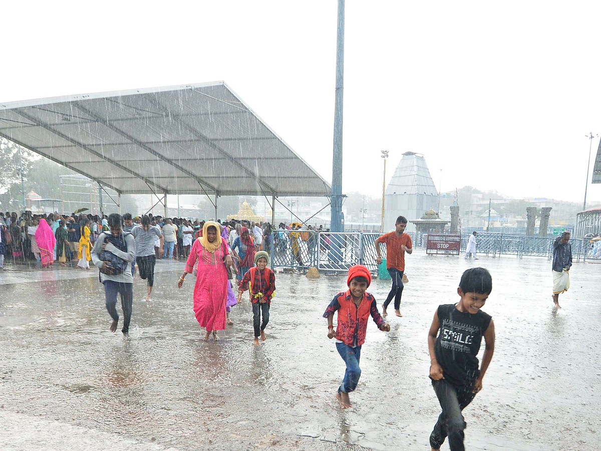
<instances>
[{"instance_id":1,"label":"smiling running child in bright red knit cap and blue jeans","mask_svg":"<svg viewBox=\"0 0 601 451\"><path fill-rule=\"evenodd\" d=\"M357 387L361 368L361 346L365 342L368 316L373 318L381 331L390 331L390 326L377 311L376 299L368 293L371 283L371 273L363 265L349 268L346 280L349 289L334 296L323 318L328 318L328 338L336 337L336 349L346 363L346 372L336 397L343 408L351 407L349 393ZM338 325L334 331L334 312L338 311Z\"/></svg>"}]
</instances>

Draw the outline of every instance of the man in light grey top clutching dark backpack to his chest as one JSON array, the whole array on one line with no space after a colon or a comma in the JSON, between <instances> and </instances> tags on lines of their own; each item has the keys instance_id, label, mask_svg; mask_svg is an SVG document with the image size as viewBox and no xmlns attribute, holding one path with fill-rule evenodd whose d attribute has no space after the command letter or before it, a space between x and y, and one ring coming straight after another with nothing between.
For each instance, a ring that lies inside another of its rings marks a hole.
<instances>
[{"instance_id":1,"label":"man in light grey top clutching dark backpack to his chest","mask_svg":"<svg viewBox=\"0 0 601 451\"><path fill-rule=\"evenodd\" d=\"M119 314L117 313L117 293L121 295L123 308L123 332L129 333L129 322L132 318L133 275L130 265L134 263L134 241L130 233L123 235L121 226L123 218L117 213L109 215L109 232L102 232L91 252L94 266L100 269L100 281L105 286L106 310L111 318L110 330L117 330Z\"/></svg>"}]
</instances>

